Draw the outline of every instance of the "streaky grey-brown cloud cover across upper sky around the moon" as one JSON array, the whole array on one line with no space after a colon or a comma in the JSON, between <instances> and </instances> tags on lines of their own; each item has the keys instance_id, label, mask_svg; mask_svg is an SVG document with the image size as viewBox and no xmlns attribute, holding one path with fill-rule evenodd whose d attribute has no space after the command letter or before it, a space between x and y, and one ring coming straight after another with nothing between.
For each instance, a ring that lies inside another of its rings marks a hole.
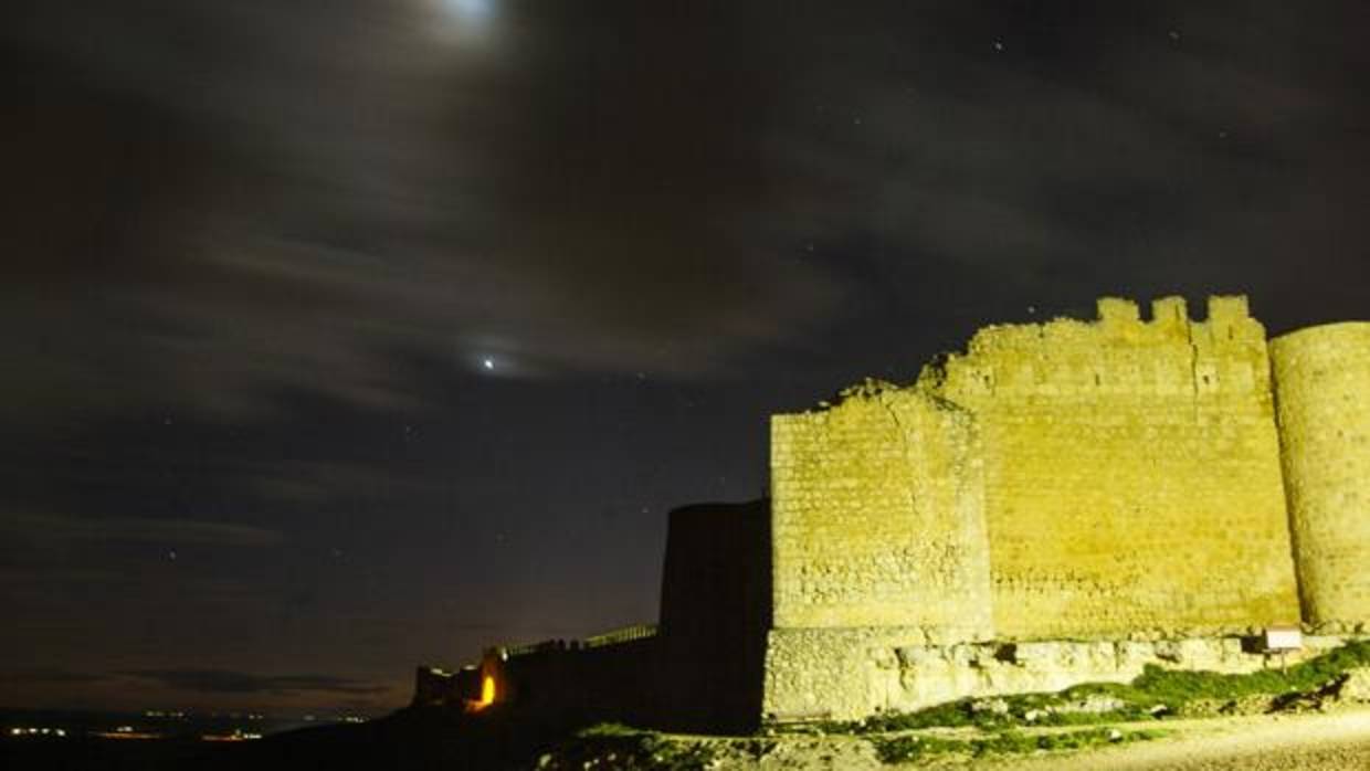
<instances>
[{"instance_id":1,"label":"streaky grey-brown cloud cover across upper sky around the moon","mask_svg":"<svg viewBox=\"0 0 1370 771\"><path fill-rule=\"evenodd\" d=\"M34 4L7 403L699 377L849 314L852 247L929 319L1349 312L1356 8ZM1293 296L1293 255L1341 281Z\"/></svg>"}]
</instances>

